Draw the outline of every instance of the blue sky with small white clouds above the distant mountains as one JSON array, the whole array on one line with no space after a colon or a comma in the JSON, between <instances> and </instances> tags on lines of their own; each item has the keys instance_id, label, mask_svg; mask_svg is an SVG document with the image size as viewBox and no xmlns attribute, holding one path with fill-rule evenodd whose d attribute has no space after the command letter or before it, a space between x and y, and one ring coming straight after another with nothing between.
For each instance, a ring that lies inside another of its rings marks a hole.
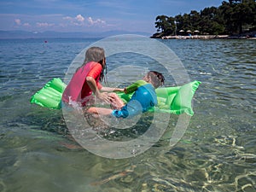
<instances>
[{"instance_id":1,"label":"blue sky with small white clouds above the distant mountains","mask_svg":"<svg viewBox=\"0 0 256 192\"><path fill-rule=\"evenodd\" d=\"M157 15L175 16L223 0L2 0L0 30L156 32Z\"/></svg>"}]
</instances>

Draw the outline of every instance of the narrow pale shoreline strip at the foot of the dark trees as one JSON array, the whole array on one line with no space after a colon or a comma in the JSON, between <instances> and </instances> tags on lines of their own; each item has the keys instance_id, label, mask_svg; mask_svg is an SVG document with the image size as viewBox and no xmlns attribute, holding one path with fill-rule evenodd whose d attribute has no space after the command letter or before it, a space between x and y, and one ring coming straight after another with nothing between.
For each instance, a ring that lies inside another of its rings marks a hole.
<instances>
[{"instance_id":1,"label":"narrow pale shoreline strip at the foot of the dark trees","mask_svg":"<svg viewBox=\"0 0 256 192\"><path fill-rule=\"evenodd\" d=\"M161 38L161 39L256 39L246 36L230 36L230 35L191 35L191 36L163 36L163 37L151 37L151 38Z\"/></svg>"}]
</instances>

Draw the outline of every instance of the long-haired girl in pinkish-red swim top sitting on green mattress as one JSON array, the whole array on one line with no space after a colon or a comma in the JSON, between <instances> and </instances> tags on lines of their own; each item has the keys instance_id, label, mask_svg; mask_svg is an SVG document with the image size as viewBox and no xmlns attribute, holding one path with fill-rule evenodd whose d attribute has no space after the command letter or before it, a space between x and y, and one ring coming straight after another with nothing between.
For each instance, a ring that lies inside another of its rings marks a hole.
<instances>
[{"instance_id":1,"label":"long-haired girl in pinkish-red swim top sitting on green mattress","mask_svg":"<svg viewBox=\"0 0 256 192\"><path fill-rule=\"evenodd\" d=\"M104 102L111 102L112 96L107 92L124 91L124 89L103 87L99 81L107 71L105 51L100 47L91 47L85 53L84 63L79 67L67 84L62 101L68 104L78 102L82 107L92 99L92 93Z\"/></svg>"}]
</instances>

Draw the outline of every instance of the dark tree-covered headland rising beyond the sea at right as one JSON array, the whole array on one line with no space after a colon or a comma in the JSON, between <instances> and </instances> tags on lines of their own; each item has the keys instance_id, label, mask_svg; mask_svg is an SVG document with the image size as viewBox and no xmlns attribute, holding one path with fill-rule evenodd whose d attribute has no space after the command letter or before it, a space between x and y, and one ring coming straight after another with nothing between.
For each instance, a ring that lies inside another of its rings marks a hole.
<instances>
[{"instance_id":1,"label":"dark tree-covered headland rising beyond the sea at right","mask_svg":"<svg viewBox=\"0 0 256 192\"><path fill-rule=\"evenodd\" d=\"M256 1L229 0L217 7L210 7L189 14L158 15L157 32L152 38L172 35L241 35L256 31ZM252 33L253 34L253 33Z\"/></svg>"}]
</instances>

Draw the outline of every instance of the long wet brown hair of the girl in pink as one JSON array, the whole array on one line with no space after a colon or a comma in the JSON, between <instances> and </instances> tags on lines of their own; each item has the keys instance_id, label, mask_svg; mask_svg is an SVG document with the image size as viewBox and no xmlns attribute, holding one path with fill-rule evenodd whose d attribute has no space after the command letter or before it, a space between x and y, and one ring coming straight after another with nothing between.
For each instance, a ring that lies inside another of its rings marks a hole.
<instances>
[{"instance_id":1,"label":"long wet brown hair of the girl in pink","mask_svg":"<svg viewBox=\"0 0 256 192\"><path fill-rule=\"evenodd\" d=\"M100 75L100 81L104 79L105 74L107 74L107 64L105 63L105 66L103 65L103 60L105 58L105 51L101 47L90 47L86 50L85 53L85 59L82 67L90 62L95 61L102 65L102 73ZM105 79L104 79L105 80Z\"/></svg>"}]
</instances>

